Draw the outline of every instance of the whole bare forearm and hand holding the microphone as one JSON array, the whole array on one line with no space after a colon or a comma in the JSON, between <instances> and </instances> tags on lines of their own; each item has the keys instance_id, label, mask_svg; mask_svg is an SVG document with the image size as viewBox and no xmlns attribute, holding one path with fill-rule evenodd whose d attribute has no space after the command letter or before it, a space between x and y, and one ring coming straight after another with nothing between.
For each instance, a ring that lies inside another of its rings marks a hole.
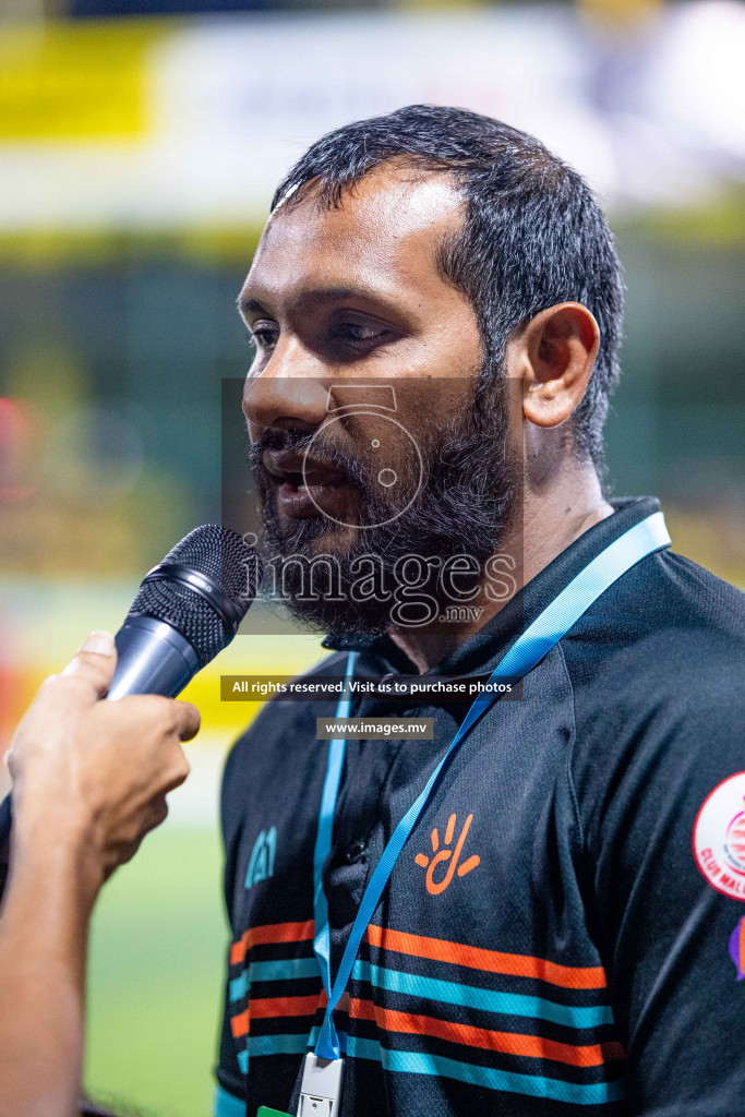
<instances>
[{"instance_id":1,"label":"whole bare forearm and hand holding the microphone","mask_svg":"<svg viewBox=\"0 0 745 1117\"><path fill-rule=\"evenodd\" d=\"M94 633L21 722L10 877L0 910L0 1117L70 1117L83 1062L90 911L103 881L168 813L189 772L187 703L101 701L116 662Z\"/></svg>"}]
</instances>

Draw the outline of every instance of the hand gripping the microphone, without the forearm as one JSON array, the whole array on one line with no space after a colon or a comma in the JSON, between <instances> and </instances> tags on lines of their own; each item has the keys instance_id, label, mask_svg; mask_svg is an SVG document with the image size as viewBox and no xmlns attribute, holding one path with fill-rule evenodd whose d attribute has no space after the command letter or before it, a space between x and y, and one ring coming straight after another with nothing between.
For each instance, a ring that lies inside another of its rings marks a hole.
<instances>
[{"instance_id":1,"label":"hand gripping the microphone, without the forearm","mask_svg":"<svg viewBox=\"0 0 745 1117\"><path fill-rule=\"evenodd\" d=\"M190 703L156 695L99 701L115 666L114 638L92 633L41 684L8 756L16 858L69 842L85 850L92 888L165 819L166 793L189 774L181 742L200 720Z\"/></svg>"}]
</instances>

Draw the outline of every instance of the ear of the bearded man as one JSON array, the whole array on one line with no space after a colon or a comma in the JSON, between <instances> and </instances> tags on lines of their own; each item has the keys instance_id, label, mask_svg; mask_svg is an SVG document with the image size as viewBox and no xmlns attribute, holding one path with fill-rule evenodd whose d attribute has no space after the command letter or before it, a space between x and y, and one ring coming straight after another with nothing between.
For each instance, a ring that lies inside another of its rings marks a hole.
<instances>
[{"instance_id":1,"label":"ear of the bearded man","mask_svg":"<svg viewBox=\"0 0 745 1117\"><path fill-rule=\"evenodd\" d=\"M600 346L598 323L581 303L560 303L536 314L514 345L523 417L536 427L558 427L585 393Z\"/></svg>"}]
</instances>

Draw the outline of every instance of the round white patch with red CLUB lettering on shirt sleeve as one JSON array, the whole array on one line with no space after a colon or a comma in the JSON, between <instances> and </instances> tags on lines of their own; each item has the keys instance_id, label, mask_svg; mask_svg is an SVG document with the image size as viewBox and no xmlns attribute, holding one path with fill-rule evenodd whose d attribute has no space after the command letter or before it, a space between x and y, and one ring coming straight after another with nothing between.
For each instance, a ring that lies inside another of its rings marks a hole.
<instances>
[{"instance_id":1,"label":"round white patch with red CLUB lettering on shirt sleeve","mask_svg":"<svg viewBox=\"0 0 745 1117\"><path fill-rule=\"evenodd\" d=\"M745 772L723 780L694 822L694 857L718 892L745 900Z\"/></svg>"}]
</instances>

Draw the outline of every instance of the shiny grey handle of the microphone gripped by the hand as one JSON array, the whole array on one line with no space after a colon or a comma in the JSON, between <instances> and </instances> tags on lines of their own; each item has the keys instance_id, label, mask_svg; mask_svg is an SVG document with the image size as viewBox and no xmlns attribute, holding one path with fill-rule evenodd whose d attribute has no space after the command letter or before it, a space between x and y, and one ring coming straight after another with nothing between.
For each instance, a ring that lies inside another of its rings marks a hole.
<instances>
[{"instance_id":1,"label":"shiny grey handle of the microphone gripped by the hand","mask_svg":"<svg viewBox=\"0 0 745 1117\"><path fill-rule=\"evenodd\" d=\"M127 617L114 638L116 670L107 699L124 695L164 695L175 698L199 670L197 652L189 641L164 621L152 617ZM10 841L10 794L0 803L0 868ZM0 895L2 877L0 876Z\"/></svg>"}]
</instances>

